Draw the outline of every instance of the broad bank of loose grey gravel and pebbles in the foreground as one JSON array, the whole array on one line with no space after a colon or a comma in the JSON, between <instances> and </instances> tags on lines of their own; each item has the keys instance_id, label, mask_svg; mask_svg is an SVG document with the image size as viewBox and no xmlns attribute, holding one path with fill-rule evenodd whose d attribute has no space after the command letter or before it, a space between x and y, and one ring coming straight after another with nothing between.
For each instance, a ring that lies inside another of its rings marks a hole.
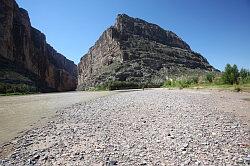
<instances>
[{"instance_id":1,"label":"broad bank of loose grey gravel and pebbles in the foreground","mask_svg":"<svg viewBox=\"0 0 250 166\"><path fill-rule=\"evenodd\" d=\"M0 165L246 165L249 98L165 89L102 97L5 144Z\"/></svg>"}]
</instances>

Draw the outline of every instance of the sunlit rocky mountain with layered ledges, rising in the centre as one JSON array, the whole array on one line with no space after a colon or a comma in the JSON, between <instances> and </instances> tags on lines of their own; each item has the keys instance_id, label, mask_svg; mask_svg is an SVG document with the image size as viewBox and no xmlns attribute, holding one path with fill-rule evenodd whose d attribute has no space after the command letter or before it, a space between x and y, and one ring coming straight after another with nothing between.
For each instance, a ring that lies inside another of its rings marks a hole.
<instances>
[{"instance_id":1,"label":"sunlit rocky mountain with layered ledges, rising in the centre","mask_svg":"<svg viewBox=\"0 0 250 166\"><path fill-rule=\"evenodd\" d=\"M118 15L78 64L79 89L109 80L163 82L167 76L214 68L171 31Z\"/></svg>"}]
</instances>

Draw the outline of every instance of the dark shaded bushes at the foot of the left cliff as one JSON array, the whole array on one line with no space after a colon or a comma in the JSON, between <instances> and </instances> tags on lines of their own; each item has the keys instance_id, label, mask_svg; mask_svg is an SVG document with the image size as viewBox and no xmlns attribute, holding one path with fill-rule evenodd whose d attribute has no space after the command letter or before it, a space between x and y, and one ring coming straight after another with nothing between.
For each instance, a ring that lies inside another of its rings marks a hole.
<instances>
[{"instance_id":1,"label":"dark shaded bushes at the foot of the left cliff","mask_svg":"<svg viewBox=\"0 0 250 166\"><path fill-rule=\"evenodd\" d=\"M37 92L37 88L27 84L0 83L0 94L28 94Z\"/></svg>"}]
</instances>

